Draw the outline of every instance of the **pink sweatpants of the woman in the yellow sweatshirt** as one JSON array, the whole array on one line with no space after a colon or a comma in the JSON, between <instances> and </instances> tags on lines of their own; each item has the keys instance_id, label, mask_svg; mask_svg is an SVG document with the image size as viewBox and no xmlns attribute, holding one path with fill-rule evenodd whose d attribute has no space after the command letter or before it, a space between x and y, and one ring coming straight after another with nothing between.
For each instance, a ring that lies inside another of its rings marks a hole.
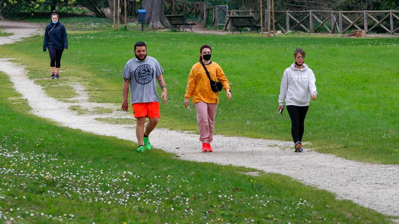
<instances>
[{"instance_id":1,"label":"pink sweatpants of the woman in the yellow sweatshirt","mask_svg":"<svg viewBox=\"0 0 399 224\"><path fill-rule=\"evenodd\" d=\"M196 102L194 107L197 110L199 141L211 143L213 141L213 125L215 124L217 104Z\"/></svg>"}]
</instances>

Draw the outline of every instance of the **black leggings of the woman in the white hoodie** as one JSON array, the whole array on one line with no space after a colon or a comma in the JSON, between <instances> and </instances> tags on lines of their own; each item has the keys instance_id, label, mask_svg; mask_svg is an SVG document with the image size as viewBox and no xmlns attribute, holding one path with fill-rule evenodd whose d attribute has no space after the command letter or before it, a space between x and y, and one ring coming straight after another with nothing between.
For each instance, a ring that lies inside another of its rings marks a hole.
<instances>
[{"instance_id":1,"label":"black leggings of the woman in the white hoodie","mask_svg":"<svg viewBox=\"0 0 399 224\"><path fill-rule=\"evenodd\" d=\"M302 141L305 130L305 117L308 109L309 106L287 106L287 111L291 118L291 135L294 143Z\"/></svg>"}]
</instances>

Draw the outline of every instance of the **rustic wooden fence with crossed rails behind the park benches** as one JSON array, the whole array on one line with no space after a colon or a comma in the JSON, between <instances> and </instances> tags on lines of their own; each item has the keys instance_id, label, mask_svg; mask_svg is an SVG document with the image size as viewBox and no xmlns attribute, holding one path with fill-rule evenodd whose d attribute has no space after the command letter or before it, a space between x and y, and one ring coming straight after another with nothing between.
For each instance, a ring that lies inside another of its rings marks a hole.
<instances>
[{"instance_id":1,"label":"rustic wooden fence with crossed rails behind the park benches","mask_svg":"<svg viewBox=\"0 0 399 224\"><path fill-rule=\"evenodd\" d=\"M216 24L216 7L209 7L200 2L185 2L183 0L162 0L162 7L165 15L184 14L189 18L203 20L203 26L212 21ZM271 19L275 29L280 29L283 33L294 30L308 33L345 33L352 29L361 29L365 33L398 33L399 32L399 11L275 11L275 19ZM212 19L209 20L209 17ZM254 10L228 10L227 16L253 16L259 20L260 12ZM268 31L268 10L263 13L264 30ZM227 19L226 19L227 21ZM230 24L225 24L225 28L231 30Z\"/></svg>"}]
</instances>

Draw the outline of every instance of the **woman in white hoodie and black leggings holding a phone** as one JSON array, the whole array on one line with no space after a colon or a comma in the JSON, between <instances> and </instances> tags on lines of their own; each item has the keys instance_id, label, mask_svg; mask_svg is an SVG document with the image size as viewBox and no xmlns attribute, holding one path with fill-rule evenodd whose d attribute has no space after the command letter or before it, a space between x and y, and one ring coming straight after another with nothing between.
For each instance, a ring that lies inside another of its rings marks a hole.
<instances>
[{"instance_id":1,"label":"woman in white hoodie and black leggings holding a phone","mask_svg":"<svg viewBox=\"0 0 399 224\"><path fill-rule=\"evenodd\" d=\"M282 75L279 96L279 111L284 101L291 118L291 135L295 143L295 152L303 152L302 136L306 113L309 108L310 96L316 100L316 78L312 69L304 63L305 51L295 49L295 62Z\"/></svg>"}]
</instances>

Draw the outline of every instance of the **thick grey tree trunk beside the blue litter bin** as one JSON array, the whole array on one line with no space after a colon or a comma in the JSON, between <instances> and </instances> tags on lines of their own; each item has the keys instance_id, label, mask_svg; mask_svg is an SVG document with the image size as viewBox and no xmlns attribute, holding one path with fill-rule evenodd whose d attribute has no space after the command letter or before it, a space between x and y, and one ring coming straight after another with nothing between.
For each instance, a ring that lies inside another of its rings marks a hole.
<instances>
[{"instance_id":1,"label":"thick grey tree trunk beside the blue litter bin","mask_svg":"<svg viewBox=\"0 0 399 224\"><path fill-rule=\"evenodd\" d=\"M164 12L162 0L144 0L142 9L147 10L146 24L150 28L164 28Z\"/></svg>"}]
</instances>

